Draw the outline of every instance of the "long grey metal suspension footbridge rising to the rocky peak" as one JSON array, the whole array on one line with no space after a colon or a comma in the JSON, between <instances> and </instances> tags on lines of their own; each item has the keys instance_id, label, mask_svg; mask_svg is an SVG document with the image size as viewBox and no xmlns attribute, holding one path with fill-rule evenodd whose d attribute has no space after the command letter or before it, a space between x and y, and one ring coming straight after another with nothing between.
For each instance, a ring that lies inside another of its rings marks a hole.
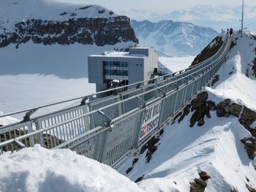
<instances>
[{"instance_id":1,"label":"long grey metal suspension footbridge rising to the rocky peak","mask_svg":"<svg viewBox=\"0 0 256 192\"><path fill-rule=\"evenodd\" d=\"M231 37L225 37L218 52L196 66L148 83L113 88L112 96L89 101L107 92L102 91L0 115L26 113L23 121L0 128L0 153L39 144L48 149L75 150L116 168L173 121L211 82L225 61L231 41ZM118 93L124 88L128 91ZM78 99L78 106L31 118L37 110Z\"/></svg>"}]
</instances>

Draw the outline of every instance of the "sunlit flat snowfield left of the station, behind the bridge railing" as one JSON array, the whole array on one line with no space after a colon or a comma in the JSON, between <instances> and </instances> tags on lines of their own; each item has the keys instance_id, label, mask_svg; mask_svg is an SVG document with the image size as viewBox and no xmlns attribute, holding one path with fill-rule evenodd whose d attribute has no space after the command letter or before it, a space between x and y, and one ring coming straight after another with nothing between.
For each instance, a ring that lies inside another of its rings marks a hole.
<instances>
[{"instance_id":1,"label":"sunlit flat snowfield left of the station, behind the bridge railing","mask_svg":"<svg viewBox=\"0 0 256 192\"><path fill-rule=\"evenodd\" d=\"M0 84L0 90L3 90L0 95L0 109L5 113L95 92L95 85L89 83L87 78L62 79L55 75L18 74L1 75L0 82L4 82ZM60 110L78 102L80 100L41 109L34 115ZM20 114L15 117L22 120L23 116L24 114Z\"/></svg>"}]
</instances>

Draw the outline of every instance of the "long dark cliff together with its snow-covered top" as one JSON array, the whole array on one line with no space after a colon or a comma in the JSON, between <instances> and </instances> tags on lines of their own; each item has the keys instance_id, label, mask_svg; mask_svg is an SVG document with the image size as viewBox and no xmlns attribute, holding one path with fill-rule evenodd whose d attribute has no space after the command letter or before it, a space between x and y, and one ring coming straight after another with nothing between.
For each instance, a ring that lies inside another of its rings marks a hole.
<instances>
[{"instance_id":1,"label":"long dark cliff together with its snow-covered top","mask_svg":"<svg viewBox=\"0 0 256 192\"><path fill-rule=\"evenodd\" d=\"M50 0L0 3L0 47L34 42L43 45L116 45L138 42L129 18L96 5Z\"/></svg>"}]
</instances>

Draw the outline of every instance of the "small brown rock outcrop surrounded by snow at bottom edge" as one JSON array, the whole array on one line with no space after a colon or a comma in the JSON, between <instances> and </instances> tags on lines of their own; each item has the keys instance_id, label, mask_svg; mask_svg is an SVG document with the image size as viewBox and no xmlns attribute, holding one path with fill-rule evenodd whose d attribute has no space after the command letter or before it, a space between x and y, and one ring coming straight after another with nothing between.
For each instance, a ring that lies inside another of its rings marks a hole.
<instances>
[{"instance_id":1,"label":"small brown rock outcrop surrounded by snow at bottom edge","mask_svg":"<svg viewBox=\"0 0 256 192\"><path fill-rule=\"evenodd\" d=\"M206 172L199 173L200 178L195 178L193 183L190 183L190 192L203 192L207 187L206 181L211 178Z\"/></svg>"}]
</instances>

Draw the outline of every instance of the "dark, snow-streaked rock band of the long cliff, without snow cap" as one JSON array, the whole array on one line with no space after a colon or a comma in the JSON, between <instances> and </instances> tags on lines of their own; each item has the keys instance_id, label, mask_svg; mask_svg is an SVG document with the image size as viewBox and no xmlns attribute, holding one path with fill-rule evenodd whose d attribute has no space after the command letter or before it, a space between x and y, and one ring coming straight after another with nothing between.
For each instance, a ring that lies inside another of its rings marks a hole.
<instances>
[{"instance_id":1,"label":"dark, snow-streaked rock band of the long cliff, without snow cap","mask_svg":"<svg viewBox=\"0 0 256 192\"><path fill-rule=\"evenodd\" d=\"M65 21L28 19L16 23L14 31L0 34L0 47L29 42L43 45L115 45L118 42L136 42L138 39L129 25L129 18L75 18Z\"/></svg>"}]
</instances>

